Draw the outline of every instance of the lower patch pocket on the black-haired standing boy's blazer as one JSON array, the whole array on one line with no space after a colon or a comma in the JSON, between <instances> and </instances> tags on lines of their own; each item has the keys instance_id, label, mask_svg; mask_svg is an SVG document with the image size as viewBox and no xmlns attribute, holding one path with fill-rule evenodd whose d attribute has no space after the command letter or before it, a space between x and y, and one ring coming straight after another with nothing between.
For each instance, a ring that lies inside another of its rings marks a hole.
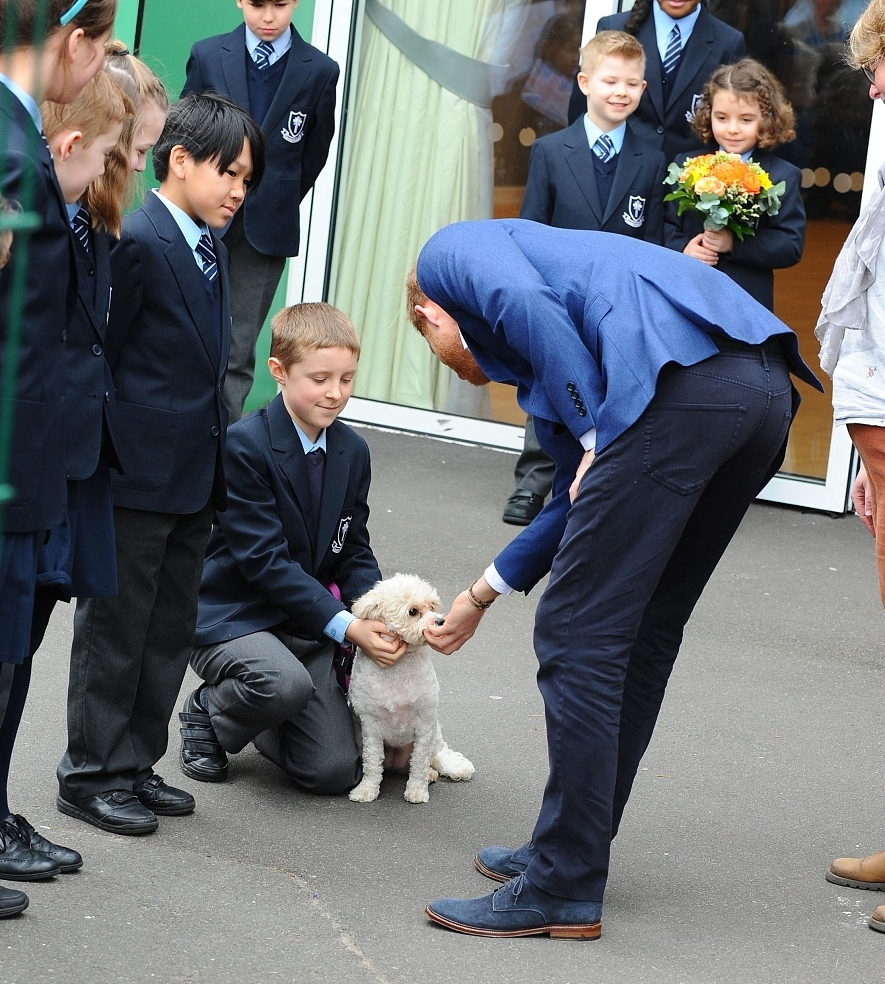
<instances>
[{"instance_id":1,"label":"lower patch pocket on the black-haired standing boy's blazer","mask_svg":"<svg viewBox=\"0 0 885 984\"><path fill-rule=\"evenodd\" d=\"M178 443L178 414L174 410L117 403L120 443L130 449L126 474L111 472L111 483L120 488L156 492L169 481Z\"/></svg>"}]
</instances>

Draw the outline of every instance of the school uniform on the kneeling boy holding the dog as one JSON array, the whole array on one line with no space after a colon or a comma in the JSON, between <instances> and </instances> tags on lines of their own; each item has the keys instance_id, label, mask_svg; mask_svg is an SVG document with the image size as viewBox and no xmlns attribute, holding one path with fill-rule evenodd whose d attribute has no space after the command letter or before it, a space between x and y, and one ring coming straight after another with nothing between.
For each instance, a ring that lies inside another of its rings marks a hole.
<instances>
[{"instance_id":1,"label":"school uniform on the kneeling boy holding the dog","mask_svg":"<svg viewBox=\"0 0 885 984\"><path fill-rule=\"evenodd\" d=\"M320 440L321 491L282 396L228 431L228 508L206 551L191 665L225 752L254 741L302 786L335 793L360 778L335 643L381 572L367 529L368 446L341 421Z\"/></svg>"}]
</instances>

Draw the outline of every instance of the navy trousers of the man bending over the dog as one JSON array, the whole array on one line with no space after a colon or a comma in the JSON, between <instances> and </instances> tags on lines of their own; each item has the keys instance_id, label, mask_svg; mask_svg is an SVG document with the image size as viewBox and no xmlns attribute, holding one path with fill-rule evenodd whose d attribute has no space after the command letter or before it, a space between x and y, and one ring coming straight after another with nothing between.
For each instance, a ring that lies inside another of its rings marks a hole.
<instances>
[{"instance_id":1,"label":"navy trousers of the man bending over the dog","mask_svg":"<svg viewBox=\"0 0 885 984\"><path fill-rule=\"evenodd\" d=\"M545 891L602 900L685 623L792 414L787 367L760 348L671 364L585 474L535 621L550 775L527 874Z\"/></svg>"}]
</instances>

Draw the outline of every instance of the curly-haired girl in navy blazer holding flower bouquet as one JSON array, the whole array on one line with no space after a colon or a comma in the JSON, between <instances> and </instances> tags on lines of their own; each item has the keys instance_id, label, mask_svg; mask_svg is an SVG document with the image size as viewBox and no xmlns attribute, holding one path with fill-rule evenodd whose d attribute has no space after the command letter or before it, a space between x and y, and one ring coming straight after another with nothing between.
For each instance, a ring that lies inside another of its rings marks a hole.
<instances>
[{"instance_id":1,"label":"curly-haired girl in navy blazer holding flower bouquet","mask_svg":"<svg viewBox=\"0 0 885 984\"><path fill-rule=\"evenodd\" d=\"M708 146L680 154L680 167L689 158L718 148L752 160L762 171L762 187L779 186L780 206L774 214L761 214L754 222L736 218L724 228L703 211L679 214L679 203L670 201L665 211L664 244L702 263L715 266L731 277L769 310L774 308L774 270L790 267L802 258L805 245L805 208L800 196L801 173L797 167L771 152L795 136L793 110L778 80L759 62L745 58L736 65L722 65L704 86L693 127ZM727 167L726 162L726 167ZM736 170L740 168L735 161ZM715 192L715 181L705 179ZM747 190L758 191L754 178L745 179ZM696 187L700 191L700 185ZM743 237L743 238L742 238Z\"/></svg>"}]
</instances>

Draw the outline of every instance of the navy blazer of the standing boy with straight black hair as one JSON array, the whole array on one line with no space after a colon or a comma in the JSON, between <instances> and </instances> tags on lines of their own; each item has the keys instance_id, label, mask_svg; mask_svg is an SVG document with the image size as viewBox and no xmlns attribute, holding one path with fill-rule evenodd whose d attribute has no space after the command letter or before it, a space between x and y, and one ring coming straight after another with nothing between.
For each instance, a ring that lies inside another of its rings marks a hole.
<instances>
[{"instance_id":1,"label":"navy blazer of the standing boy with straight black hair","mask_svg":"<svg viewBox=\"0 0 885 984\"><path fill-rule=\"evenodd\" d=\"M224 508L221 396L230 349L227 250L214 234L221 290L218 334L206 278L169 209L153 192L123 219L111 248L107 357L117 391L125 474L114 504L188 515Z\"/></svg>"}]
</instances>

